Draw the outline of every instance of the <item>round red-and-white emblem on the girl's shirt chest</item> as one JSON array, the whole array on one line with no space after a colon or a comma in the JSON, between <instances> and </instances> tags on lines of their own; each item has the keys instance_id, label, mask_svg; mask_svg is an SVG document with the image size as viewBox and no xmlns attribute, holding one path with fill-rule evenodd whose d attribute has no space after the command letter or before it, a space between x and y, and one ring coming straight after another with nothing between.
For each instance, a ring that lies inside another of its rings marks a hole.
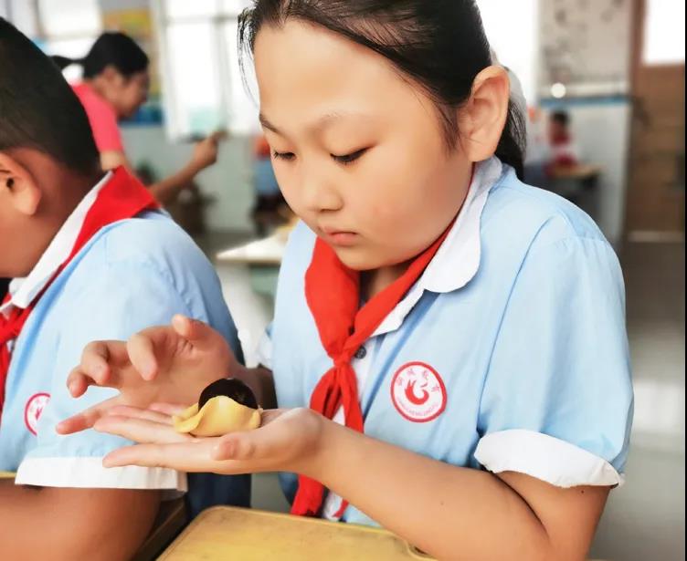
<instances>
[{"instance_id":1,"label":"round red-and-white emblem on the girl's shirt chest","mask_svg":"<svg viewBox=\"0 0 687 561\"><path fill-rule=\"evenodd\" d=\"M428 364L408 362L391 380L391 400L408 421L433 421L446 409L444 380Z\"/></svg>"}]
</instances>

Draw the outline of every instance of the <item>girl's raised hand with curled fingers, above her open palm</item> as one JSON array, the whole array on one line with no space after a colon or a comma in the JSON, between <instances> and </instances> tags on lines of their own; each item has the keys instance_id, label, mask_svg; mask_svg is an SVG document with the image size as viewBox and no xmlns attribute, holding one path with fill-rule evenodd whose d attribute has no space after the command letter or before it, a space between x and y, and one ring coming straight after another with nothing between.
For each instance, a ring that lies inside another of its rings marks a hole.
<instances>
[{"instance_id":1,"label":"girl's raised hand with curled fingers, above her open palm","mask_svg":"<svg viewBox=\"0 0 687 561\"><path fill-rule=\"evenodd\" d=\"M145 329L128 342L90 343L79 366L69 373L69 392L78 398L89 386L103 386L120 394L60 422L57 430L69 434L89 429L117 405L195 403L210 382L238 369L227 341L217 331L184 316L175 316L171 327Z\"/></svg>"}]
</instances>

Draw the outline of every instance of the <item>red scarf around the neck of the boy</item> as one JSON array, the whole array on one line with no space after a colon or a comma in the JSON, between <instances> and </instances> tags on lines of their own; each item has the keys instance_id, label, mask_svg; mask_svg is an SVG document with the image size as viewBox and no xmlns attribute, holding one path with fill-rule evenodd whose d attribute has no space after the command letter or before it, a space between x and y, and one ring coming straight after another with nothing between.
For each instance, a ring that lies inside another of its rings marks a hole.
<instances>
[{"instance_id":1,"label":"red scarf around the neck of the boy","mask_svg":"<svg viewBox=\"0 0 687 561\"><path fill-rule=\"evenodd\" d=\"M31 311L40 297L48 290L48 286L52 284L62 270L69 265L74 256L79 253L84 245L88 244L90 239L101 228L158 207L159 205L153 199L153 195L138 180L133 178L123 167L117 168L110 180L100 189L95 202L84 218L81 230L74 246L69 252L69 256L59 265L58 270L52 275L48 284L43 287L26 308L14 307L8 317L0 313L0 415L2 415L5 403L5 381L11 358L7 344L19 337L22 327L24 327L26 320L31 315ZM7 295L5 302L9 301L9 299L10 296Z\"/></svg>"}]
</instances>

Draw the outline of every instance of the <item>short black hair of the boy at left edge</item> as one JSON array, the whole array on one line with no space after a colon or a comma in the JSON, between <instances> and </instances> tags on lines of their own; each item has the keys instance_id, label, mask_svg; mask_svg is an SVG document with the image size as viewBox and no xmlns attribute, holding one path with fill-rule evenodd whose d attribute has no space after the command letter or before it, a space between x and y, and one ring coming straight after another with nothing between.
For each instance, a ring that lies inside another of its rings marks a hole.
<instances>
[{"instance_id":1,"label":"short black hair of the boy at left edge","mask_svg":"<svg viewBox=\"0 0 687 561\"><path fill-rule=\"evenodd\" d=\"M59 68L0 17L0 151L16 148L84 175L100 170L86 111Z\"/></svg>"}]
</instances>

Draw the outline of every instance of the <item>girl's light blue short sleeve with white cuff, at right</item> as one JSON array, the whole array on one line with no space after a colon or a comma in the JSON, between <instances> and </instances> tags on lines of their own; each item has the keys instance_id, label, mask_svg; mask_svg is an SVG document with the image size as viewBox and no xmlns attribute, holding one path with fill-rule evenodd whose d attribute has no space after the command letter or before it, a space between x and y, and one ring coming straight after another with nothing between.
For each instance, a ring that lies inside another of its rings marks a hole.
<instances>
[{"instance_id":1,"label":"girl's light blue short sleeve with white cuff, at right","mask_svg":"<svg viewBox=\"0 0 687 561\"><path fill-rule=\"evenodd\" d=\"M533 246L481 397L475 458L560 487L622 483L632 416L625 296L603 239Z\"/></svg>"}]
</instances>

